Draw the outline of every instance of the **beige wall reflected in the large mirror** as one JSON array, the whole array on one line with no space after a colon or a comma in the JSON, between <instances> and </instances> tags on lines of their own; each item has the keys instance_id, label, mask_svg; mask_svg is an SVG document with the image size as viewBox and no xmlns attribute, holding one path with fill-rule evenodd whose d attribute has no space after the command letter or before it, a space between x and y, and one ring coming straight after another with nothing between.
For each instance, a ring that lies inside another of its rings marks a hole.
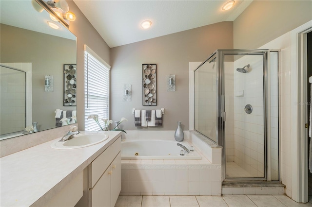
<instances>
[{"instance_id":1,"label":"beige wall reflected in the large mirror","mask_svg":"<svg viewBox=\"0 0 312 207\"><path fill-rule=\"evenodd\" d=\"M76 41L4 24L0 32L1 62L32 64L32 121L39 130L54 128L57 108L76 110L63 106L63 64L76 64ZM51 92L44 91L44 75L53 75Z\"/></svg>"}]
</instances>

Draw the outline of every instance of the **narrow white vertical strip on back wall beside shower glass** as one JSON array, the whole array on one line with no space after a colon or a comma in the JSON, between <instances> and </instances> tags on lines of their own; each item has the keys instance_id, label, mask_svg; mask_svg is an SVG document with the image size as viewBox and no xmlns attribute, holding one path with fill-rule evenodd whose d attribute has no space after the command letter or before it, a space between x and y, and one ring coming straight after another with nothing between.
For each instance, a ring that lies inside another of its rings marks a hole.
<instances>
[{"instance_id":1,"label":"narrow white vertical strip on back wall beside shower glass","mask_svg":"<svg viewBox=\"0 0 312 207\"><path fill-rule=\"evenodd\" d=\"M189 128L190 130L194 130L194 71L202 62L189 62Z\"/></svg>"}]
</instances>

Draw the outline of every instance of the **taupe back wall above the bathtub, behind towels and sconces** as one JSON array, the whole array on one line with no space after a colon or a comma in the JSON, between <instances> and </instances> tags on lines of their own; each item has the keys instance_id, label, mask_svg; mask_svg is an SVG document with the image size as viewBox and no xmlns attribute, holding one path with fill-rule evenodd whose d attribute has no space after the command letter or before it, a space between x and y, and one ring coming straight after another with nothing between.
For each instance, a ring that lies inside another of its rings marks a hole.
<instances>
[{"instance_id":1,"label":"taupe back wall above the bathtub, behind towels and sconces","mask_svg":"<svg viewBox=\"0 0 312 207\"><path fill-rule=\"evenodd\" d=\"M204 61L216 49L233 48L233 22L220 22L111 49L111 119L129 121L136 130L132 108L165 108L160 130L175 130L182 121L189 129L189 62ZM157 106L142 106L142 64L157 64ZM176 91L167 91L166 75L176 75ZM124 84L132 85L131 102L123 102ZM156 127L143 129L155 130Z\"/></svg>"}]
</instances>

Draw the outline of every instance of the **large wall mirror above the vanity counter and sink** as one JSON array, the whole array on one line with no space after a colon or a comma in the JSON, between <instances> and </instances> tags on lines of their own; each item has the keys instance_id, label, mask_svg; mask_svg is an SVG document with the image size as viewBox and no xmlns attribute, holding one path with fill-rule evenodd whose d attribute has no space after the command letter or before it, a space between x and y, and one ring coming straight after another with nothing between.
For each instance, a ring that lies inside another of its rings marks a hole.
<instances>
[{"instance_id":1,"label":"large wall mirror above the vanity counter and sink","mask_svg":"<svg viewBox=\"0 0 312 207\"><path fill-rule=\"evenodd\" d=\"M64 106L64 65L76 64L76 56L76 36L36 1L0 1L1 140L27 134L33 122L39 131L55 128L56 109L76 112ZM46 76L53 77L48 91Z\"/></svg>"}]
</instances>

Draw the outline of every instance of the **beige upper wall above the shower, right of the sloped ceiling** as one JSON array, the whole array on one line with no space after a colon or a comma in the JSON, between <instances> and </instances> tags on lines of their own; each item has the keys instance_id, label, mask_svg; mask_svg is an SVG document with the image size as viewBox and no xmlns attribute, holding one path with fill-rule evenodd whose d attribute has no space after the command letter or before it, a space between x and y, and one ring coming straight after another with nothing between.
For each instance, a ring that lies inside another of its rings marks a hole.
<instances>
[{"instance_id":1,"label":"beige upper wall above the shower, right of the sloped ceiling","mask_svg":"<svg viewBox=\"0 0 312 207\"><path fill-rule=\"evenodd\" d=\"M259 48L311 19L311 0L254 0L234 20L234 48Z\"/></svg>"}]
</instances>

